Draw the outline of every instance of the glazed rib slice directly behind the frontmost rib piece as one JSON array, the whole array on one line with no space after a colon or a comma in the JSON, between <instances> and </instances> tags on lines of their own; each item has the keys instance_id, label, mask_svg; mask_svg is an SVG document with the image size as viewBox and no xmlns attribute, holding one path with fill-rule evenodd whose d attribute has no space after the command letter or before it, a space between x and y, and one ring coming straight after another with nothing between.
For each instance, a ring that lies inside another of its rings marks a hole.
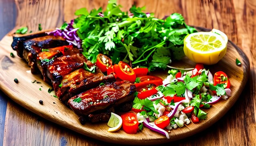
<instances>
[{"instance_id":1,"label":"glazed rib slice directly behind the frontmost rib piece","mask_svg":"<svg viewBox=\"0 0 256 146\"><path fill-rule=\"evenodd\" d=\"M61 81L62 86L58 88L56 95L59 97L59 100L66 102L73 95L99 86L101 83L108 82L115 82L114 75L105 76L103 73L101 73L100 69L97 69L95 73L91 73L90 71L86 71L85 69L81 68L63 77ZM76 88L77 85L81 84L83 86ZM72 91L72 93L70 93L70 91Z\"/></svg>"}]
</instances>

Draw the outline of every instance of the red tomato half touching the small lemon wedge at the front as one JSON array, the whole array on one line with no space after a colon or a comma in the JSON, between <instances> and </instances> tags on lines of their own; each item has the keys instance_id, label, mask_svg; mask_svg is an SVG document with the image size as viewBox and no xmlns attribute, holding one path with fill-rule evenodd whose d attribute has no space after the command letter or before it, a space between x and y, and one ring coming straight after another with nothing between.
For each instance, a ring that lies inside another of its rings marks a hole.
<instances>
[{"instance_id":1,"label":"red tomato half touching the small lemon wedge at the front","mask_svg":"<svg viewBox=\"0 0 256 146\"><path fill-rule=\"evenodd\" d=\"M123 120L122 127L124 132L128 134L135 134L139 131L139 121L135 113L124 113L121 115L121 118Z\"/></svg>"}]
</instances>

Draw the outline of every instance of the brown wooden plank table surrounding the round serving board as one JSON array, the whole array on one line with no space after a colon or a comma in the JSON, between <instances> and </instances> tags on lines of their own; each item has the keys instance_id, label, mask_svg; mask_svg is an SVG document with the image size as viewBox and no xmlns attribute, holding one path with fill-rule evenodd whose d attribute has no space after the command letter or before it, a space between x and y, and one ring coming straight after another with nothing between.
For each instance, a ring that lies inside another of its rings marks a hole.
<instances>
[{"instance_id":1,"label":"brown wooden plank table surrounding the round serving board","mask_svg":"<svg viewBox=\"0 0 256 146\"><path fill-rule=\"evenodd\" d=\"M0 0L0 38L15 26L37 31L60 27L75 18L74 11L106 7L107 0ZM236 104L215 124L174 145L255 145L256 144L256 1L255 0L118 0L124 11L136 4L163 18L181 13L186 23L225 32L250 61L249 80ZM17 7L16 7L17 6ZM16 17L17 16L17 17ZM49 122L13 102L0 91L0 145L90 145L101 142ZM112 144L113 145L113 144ZM114 144L115 145L115 144ZM163 144L166 145L166 144Z\"/></svg>"}]
</instances>

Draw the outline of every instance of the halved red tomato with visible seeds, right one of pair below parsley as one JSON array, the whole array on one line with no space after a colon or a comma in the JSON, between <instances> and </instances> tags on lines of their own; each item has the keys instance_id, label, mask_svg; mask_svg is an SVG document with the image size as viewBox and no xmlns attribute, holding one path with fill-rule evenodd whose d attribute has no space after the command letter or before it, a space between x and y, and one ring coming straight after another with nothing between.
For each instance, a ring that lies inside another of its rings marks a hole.
<instances>
[{"instance_id":1,"label":"halved red tomato with visible seeds, right one of pair below parsley","mask_svg":"<svg viewBox=\"0 0 256 146\"><path fill-rule=\"evenodd\" d=\"M135 82L136 75L130 65L126 62L119 61L118 64L114 65L114 70L117 77L119 77L121 80L128 80L131 83Z\"/></svg>"}]
</instances>

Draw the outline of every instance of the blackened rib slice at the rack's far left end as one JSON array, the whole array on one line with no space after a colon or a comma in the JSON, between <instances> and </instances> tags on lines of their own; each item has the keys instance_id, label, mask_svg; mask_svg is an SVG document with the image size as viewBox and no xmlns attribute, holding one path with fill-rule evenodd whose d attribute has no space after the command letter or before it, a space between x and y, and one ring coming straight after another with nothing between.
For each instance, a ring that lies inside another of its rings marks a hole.
<instances>
[{"instance_id":1,"label":"blackened rib slice at the rack's far left end","mask_svg":"<svg viewBox=\"0 0 256 146\"><path fill-rule=\"evenodd\" d=\"M47 30L52 31L52 30ZM23 58L23 42L29 39L38 38L47 35L46 31L39 31L36 33L28 33L28 34L14 34L13 42L11 43L11 47L14 51L17 51L17 54L20 58Z\"/></svg>"}]
</instances>

